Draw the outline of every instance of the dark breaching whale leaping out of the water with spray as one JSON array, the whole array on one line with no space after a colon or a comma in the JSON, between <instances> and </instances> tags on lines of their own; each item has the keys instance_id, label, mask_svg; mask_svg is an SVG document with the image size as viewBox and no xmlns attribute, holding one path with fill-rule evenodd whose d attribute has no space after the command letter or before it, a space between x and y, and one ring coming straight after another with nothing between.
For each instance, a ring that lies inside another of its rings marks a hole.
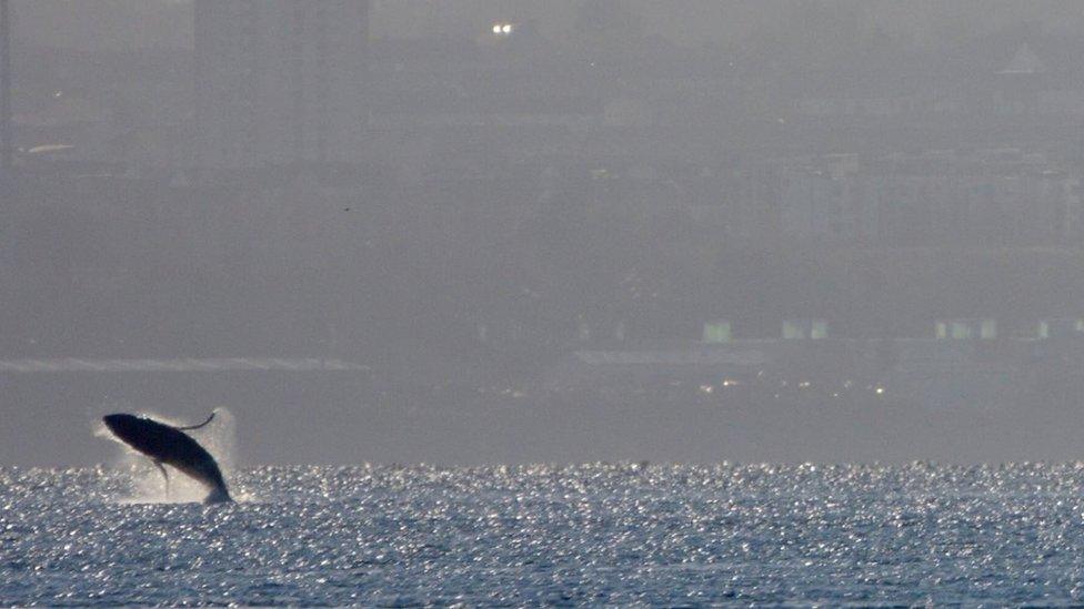
<instances>
[{"instance_id":1,"label":"dark breaching whale leaping out of the water with spray","mask_svg":"<svg viewBox=\"0 0 1084 609\"><path fill-rule=\"evenodd\" d=\"M124 444L150 457L154 465L165 476L167 488L169 474L165 465L175 467L195 481L205 486L211 493L203 499L204 504L232 501L225 488L225 479L214 457L191 438L184 430L199 429L211 419L189 427L173 427L157 420L138 417L136 415L116 414L102 417L106 427Z\"/></svg>"}]
</instances>

